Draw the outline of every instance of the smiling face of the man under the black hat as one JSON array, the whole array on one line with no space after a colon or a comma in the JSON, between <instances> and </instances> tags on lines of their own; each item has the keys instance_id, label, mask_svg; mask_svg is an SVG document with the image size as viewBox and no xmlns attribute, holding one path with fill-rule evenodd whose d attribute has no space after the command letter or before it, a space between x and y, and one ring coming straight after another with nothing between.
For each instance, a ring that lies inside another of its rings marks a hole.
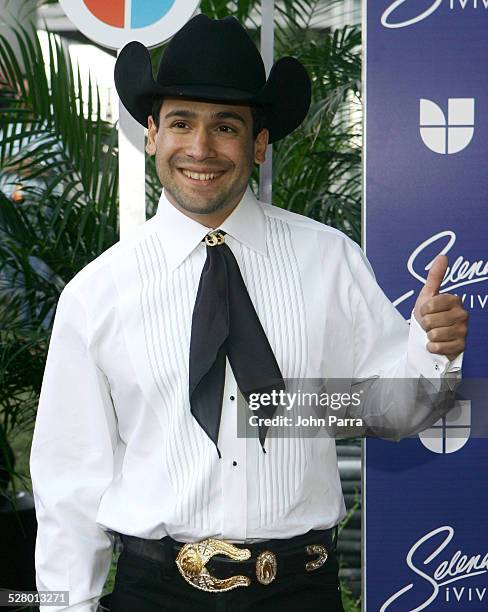
<instances>
[{"instance_id":1,"label":"smiling face of the man under the black hat","mask_svg":"<svg viewBox=\"0 0 488 612\"><path fill-rule=\"evenodd\" d=\"M146 151L173 205L189 216L230 212L254 163L262 163L267 130L254 141L248 106L165 98L159 128L148 118Z\"/></svg>"}]
</instances>

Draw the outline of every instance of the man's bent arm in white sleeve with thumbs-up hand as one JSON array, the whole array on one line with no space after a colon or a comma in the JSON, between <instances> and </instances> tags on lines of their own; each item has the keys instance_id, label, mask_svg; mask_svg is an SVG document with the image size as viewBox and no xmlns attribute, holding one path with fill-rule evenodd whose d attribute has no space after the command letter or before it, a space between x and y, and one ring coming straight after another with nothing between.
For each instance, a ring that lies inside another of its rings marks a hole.
<instances>
[{"instance_id":1,"label":"man's bent arm in white sleeve with thumbs-up hand","mask_svg":"<svg viewBox=\"0 0 488 612\"><path fill-rule=\"evenodd\" d=\"M445 272L433 266L431 282L417 300L419 308L426 303L439 306L441 322L446 317L457 322L458 316L464 321L450 330L449 344L432 346L419 322L412 319L409 327L387 299L364 254L357 249L355 255L353 391L362 389L363 400L359 413L352 416L363 418L367 435L400 439L429 427L453 406L454 384L449 377L456 371L460 377L462 353L457 353L464 349L466 319L459 301L451 299L454 296L437 295L438 300L432 300ZM448 314L450 305L455 311Z\"/></svg>"}]
</instances>

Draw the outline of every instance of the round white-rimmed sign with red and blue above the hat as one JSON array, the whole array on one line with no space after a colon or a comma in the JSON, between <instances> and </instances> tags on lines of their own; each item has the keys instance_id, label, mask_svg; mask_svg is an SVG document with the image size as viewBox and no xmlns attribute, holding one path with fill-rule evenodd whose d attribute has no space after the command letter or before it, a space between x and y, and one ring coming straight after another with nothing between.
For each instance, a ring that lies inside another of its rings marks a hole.
<instances>
[{"instance_id":1,"label":"round white-rimmed sign with red and blue above the hat","mask_svg":"<svg viewBox=\"0 0 488 612\"><path fill-rule=\"evenodd\" d=\"M131 40L154 47L195 13L199 0L60 0L73 24L91 40L121 49Z\"/></svg>"}]
</instances>

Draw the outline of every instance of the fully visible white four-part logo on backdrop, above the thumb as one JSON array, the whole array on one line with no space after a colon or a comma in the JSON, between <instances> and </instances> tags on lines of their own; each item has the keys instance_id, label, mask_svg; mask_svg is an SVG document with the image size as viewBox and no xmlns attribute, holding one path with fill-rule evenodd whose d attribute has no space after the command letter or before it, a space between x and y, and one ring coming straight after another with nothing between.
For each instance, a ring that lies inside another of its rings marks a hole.
<instances>
[{"instance_id":1,"label":"fully visible white four-part logo on backdrop, above the thumb","mask_svg":"<svg viewBox=\"0 0 488 612\"><path fill-rule=\"evenodd\" d=\"M469 145L473 134L474 98L449 98L447 120L435 102L420 99L420 135L434 153L459 153Z\"/></svg>"}]
</instances>

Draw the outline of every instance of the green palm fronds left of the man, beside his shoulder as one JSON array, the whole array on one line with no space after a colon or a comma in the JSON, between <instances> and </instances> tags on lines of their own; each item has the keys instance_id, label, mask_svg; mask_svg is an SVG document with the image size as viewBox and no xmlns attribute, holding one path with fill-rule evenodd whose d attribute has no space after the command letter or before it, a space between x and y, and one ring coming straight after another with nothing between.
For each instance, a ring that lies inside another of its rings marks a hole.
<instances>
[{"instance_id":1,"label":"green palm fronds left of the man, beside his shoulder","mask_svg":"<svg viewBox=\"0 0 488 612\"><path fill-rule=\"evenodd\" d=\"M96 88L83 95L54 36L47 65L34 32L19 28L15 37L18 57L0 36L0 424L7 440L32 428L61 290L117 239L117 135L101 119ZM6 192L18 184L22 197L14 202ZM5 444L0 452L7 457ZM7 468L13 475L12 462Z\"/></svg>"}]
</instances>

